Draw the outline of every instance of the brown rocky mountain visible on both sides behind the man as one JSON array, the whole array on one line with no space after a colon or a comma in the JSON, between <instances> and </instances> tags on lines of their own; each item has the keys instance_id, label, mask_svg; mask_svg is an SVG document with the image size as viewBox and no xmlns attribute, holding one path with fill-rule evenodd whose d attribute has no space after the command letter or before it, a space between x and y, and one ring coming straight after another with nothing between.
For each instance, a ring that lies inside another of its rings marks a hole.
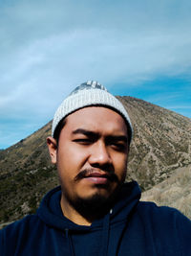
<instances>
[{"instance_id":1,"label":"brown rocky mountain visible on both sides behind the man","mask_svg":"<svg viewBox=\"0 0 191 256\"><path fill-rule=\"evenodd\" d=\"M117 98L134 127L127 180L136 179L142 191L150 191L177 172L181 176L181 168L191 164L190 119L133 97ZM33 213L45 193L58 185L46 146L51 123L0 151L0 223Z\"/></svg>"}]
</instances>

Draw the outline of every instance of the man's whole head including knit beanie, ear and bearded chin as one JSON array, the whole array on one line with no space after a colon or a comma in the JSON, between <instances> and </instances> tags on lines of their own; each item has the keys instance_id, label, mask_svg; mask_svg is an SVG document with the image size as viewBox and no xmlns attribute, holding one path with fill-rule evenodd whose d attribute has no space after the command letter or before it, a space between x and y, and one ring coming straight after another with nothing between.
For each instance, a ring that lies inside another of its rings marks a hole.
<instances>
[{"instance_id":1,"label":"man's whole head including knit beanie, ear and bearded chin","mask_svg":"<svg viewBox=\"0 0 191 256\"><path fill-rule=\"evenodd\" d=\"M63 104L58 108L53 120L53 137L47 141L52 162L57 165L62 198L81 214L92 215L113 203L125 180L132 127L114 104L103 105L99 100L96 105L94 98L85 95L85 100L93 104L86 105L80 99L84 105L76 107L77 94L80 98L83 90L88 94L100 90L101 94L103 89L75 90L69 96L69 99L75 97L75 109L66 111L63 117ZM105 89L103 93L104 99L105 95L111 95ZM121 106L118 101L117 104Z\"/></svg>"}]
</instances>

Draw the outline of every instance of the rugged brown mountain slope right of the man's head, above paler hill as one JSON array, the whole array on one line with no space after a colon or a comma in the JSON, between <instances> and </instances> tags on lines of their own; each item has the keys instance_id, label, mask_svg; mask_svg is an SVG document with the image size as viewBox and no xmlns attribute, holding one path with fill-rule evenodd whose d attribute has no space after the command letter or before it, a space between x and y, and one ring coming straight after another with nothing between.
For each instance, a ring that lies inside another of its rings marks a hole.
<instances>
[{"instance_id":1,"label":"rugged brown mountain slope right of the man's head, above paler hill","mask_svg":"<svg viewBox=\"0 0 191 256\"><path fill-rule=\"evenodd\" d=\"M143 190L191 162L190 119L142 100L119 100L128 109L135 130L128 173Z\"/></svg>"}]
</instances>

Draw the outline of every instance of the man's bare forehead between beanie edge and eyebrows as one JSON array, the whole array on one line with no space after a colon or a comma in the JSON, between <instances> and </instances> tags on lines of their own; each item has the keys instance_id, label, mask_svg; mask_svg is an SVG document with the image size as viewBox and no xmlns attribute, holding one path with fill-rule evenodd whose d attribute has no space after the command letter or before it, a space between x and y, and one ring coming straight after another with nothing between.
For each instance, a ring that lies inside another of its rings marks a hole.
<instances>
[{"instance_id":1,"label":"man's bare forehead between beanie edge and eyebrows","mask_svg":"<svg viewBox=\"0 0 191 256\"><path fill-rule=\"evenodd\" d=\"M116 111L103 106L88 106L78 109L67 117L68 130L86 128L97 131L127 133L124 119Z\"/></svg>"}]
</instances>

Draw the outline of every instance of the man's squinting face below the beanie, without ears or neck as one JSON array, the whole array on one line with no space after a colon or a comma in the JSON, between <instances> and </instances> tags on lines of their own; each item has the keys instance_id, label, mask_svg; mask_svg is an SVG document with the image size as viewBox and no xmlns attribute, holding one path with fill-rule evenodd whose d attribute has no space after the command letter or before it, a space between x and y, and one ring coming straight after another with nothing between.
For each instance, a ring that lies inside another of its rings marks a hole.
<instances>
[{"instance_id":1,"label":"man's squinting face below the beanie, without ears or neck","mask_svg":"<svg viewBox=\"0 0 191 256\"><path fill-rule=\"evenodd\" d=\"M127 127L117 112L85 107L67 117L56 151L64 200L109 199L124 182Z\"/></svg>"}]
</instances>

